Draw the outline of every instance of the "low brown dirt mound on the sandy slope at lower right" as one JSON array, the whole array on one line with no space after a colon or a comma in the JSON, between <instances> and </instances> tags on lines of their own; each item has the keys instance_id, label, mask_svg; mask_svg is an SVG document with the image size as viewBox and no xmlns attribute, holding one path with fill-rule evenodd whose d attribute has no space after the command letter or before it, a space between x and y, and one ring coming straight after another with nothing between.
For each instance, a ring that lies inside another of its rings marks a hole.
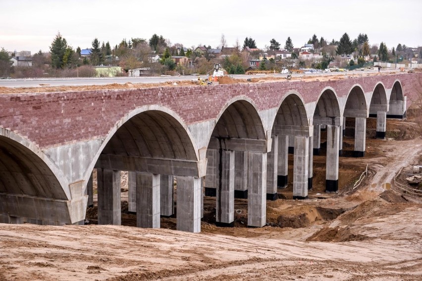
<instances>
[{"instance_id":1,"label":"low brown dirt mound on the sandy slope at lower right","mask_svg":"<svg viewBox=\"0 0 422 281\"><path fill-rule=\"evenodd\" d=\"M362 234L354 234L352 229L346 227L324 227L310 236L306 241L319 242L347 242L347 241L364 241L371 239L369 236Z\"/></svg>"}]
</instances>

